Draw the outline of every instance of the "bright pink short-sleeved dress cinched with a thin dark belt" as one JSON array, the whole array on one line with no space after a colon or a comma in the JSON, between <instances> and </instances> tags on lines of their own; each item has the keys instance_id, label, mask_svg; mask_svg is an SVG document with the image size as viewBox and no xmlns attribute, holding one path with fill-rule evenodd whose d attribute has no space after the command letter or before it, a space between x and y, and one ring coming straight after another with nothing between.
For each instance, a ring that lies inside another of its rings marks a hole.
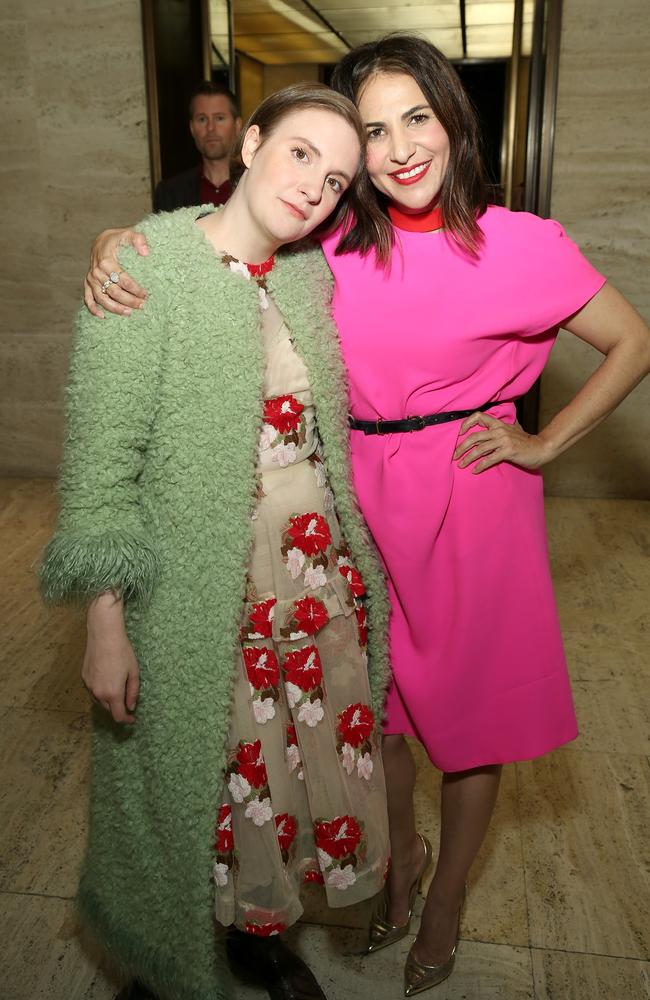
<instances>
[{"instance_id":1,"label":"bright pink short-sleeved dress cinched with a thin dark belt","mask_svg":"<svg viewBox=\"0 0 650 1000\"><path fill-rule=\"evenodd\" d=\"M515 420L559 324L604 284L562 227L490 207L478 259L445 233L397 231L390 270L335 256L334 317L361 420L471 409ZM460 422L351 431L362 512L392 603L387 733L460 771L527 760L577 725L549 572L539 472L453 461Z\"/></svg>"}]
</instances>

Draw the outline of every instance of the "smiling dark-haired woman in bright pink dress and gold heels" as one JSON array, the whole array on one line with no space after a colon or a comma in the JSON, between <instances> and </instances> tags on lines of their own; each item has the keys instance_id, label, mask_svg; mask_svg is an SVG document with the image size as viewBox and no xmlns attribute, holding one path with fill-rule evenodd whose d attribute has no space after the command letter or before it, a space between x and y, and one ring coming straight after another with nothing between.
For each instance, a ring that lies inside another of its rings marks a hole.
<instances>
[{"instance_id":1,"label":"smiling dark-haired woman in bright pink dress and gold heels","mask_svg":"<svg viewBox=\"0 0 650 1000\"><path fill-rule=\"evenodd\" d=\"M433 46L403 35L361 46L333 83L361 111L384 213L379 226L359 218L323 244L349 372L355 486L392 602L383 753L393 861L370 951L408 932L430 860L404 736L443 772L437 866L407 959L408 996L453 968L502 764L577 734L538 470L643 378L650 336L556 222L487 206L474 113ZM132 232L96 243L86 301L97 314L95 303L123 311L144 294L128 275L108 281L120 242L146 252ZM605 359L527 434L514 401L560 326Z\"/></svg>"}]
</instances>

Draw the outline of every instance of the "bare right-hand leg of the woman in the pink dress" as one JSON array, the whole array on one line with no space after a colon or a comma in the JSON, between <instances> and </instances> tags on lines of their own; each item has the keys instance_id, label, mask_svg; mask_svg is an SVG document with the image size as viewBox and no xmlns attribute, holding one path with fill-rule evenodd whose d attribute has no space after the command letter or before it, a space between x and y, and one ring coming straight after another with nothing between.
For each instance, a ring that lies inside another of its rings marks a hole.
<instances>
[{"instance_id":1,"label":"bare right-hand leg of the woman in the pink dress","mask_svg":"<svg viewBox=\"0 0 650 1000\"><path fill-rule=\"evenodd\" d=\"M413 947L427 965L446 962L456 942L465 882L487 832L500 777L498 764L443 775L438 864Z\"/></svg>"}]
</instances>

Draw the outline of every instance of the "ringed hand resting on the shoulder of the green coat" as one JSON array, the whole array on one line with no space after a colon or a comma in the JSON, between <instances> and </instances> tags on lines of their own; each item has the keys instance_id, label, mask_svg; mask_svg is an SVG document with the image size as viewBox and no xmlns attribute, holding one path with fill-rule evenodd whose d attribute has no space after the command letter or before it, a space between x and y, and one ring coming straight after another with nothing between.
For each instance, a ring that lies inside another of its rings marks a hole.
<instances>
[{"instance_id":1,"label":"ringed hand resting on the shoulder of the green coat","mask_svg":"<svg viewBox=\"0 0 650 1000\"><path fill-rule=\"evenodd\" d=\"M134 309L142 308L147 297L145 289L120 267L117 259L120 247L133 247L141 257L149 253L146 236L134 229L105 229L99 234L92 245L90 268L84 278L86 308L98 319L104 319L103 309L130 316Z\"/></svg>"}]
</instances>

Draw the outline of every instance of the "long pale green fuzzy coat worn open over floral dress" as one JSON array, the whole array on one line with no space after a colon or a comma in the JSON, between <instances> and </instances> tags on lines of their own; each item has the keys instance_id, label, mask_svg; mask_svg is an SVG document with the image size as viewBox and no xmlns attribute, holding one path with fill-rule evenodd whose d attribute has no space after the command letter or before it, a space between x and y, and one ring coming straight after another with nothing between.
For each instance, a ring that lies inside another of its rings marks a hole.
<instances>
[{"instance_id":1,"label":"long pale green fuzzy coat worn open over floral dress","mask_svg":"<svg viewBox=\"0 0 650 1000\"><path fill-rule=\"evenodd\" d=\"M42 565L49 601L125 596L137 723L95 712L79 901L121 969L170 1000L231 995L211 870L264 375L257 285L218 262L196 214L147 219L150 255L123 254L149 290L142 311L79 314L59 524ZM366 583L379 718L388 605L350 485L331 274L317 248L283 252L268 286L309 370L336 508Z\"/></svg>"}]
</instances>

